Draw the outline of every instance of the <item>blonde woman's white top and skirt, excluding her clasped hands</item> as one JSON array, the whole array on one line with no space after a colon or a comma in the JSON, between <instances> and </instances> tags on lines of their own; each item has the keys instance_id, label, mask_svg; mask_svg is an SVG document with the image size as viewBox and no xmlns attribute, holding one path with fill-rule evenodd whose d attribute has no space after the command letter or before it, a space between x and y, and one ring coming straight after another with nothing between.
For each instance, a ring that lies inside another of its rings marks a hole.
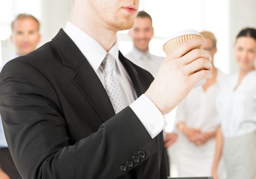
<instances>
[{"instance_id":1,"label":"blonde woman's white top and skirt, excluding her clasped hands","mask_svg":"<svg viewBox=\"0 0 256 179\"><path fill-rule=\"evenodd\" d=\"M225 75L218 70L217 80L206 91L202 86L193 88L187 97L178 105L176 124L183 121L187 126L198 128L202 132L215 131L218 127L216 97L219 92L220 80ZM176 127L176 125L175 125ZM181 131L173 151L173 163L179 176L210 175L215 153L215 139L208 140L204 145L191 143Z\"/></svg>"}]
</instances>

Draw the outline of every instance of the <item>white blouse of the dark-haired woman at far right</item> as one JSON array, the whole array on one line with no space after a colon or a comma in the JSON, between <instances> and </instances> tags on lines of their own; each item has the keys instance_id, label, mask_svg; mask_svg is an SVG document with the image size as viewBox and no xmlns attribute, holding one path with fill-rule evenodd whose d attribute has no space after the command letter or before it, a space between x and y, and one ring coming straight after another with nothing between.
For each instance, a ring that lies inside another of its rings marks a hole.
<instances>
[{"instance_id":1,"label":"white blouse of the dark-haired woman at far right","mask_svg":"<svg viewBox=\"0 0 256 179\"><path fill-rule=\"evenodd\" d=\"M236 88L239 74L221 83L217 98L218 120L224 137L256 132L256 70L249 72Z\"/></svg>"}]
</instances>

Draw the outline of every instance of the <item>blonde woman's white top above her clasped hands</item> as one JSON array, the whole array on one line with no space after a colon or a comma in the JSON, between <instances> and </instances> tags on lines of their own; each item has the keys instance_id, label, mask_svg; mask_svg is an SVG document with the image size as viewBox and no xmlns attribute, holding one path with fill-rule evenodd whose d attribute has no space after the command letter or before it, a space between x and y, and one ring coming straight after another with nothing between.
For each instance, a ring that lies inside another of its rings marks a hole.
<instances>
[{"instance_id":1,"label":"blonde woman's white top above her clasped hands","mask_svg":"<svg viewBox=\"0 0 256 179\"><path fill-rule=\"evenodd\" d=\"M217 80L204 92L202 86L193 88L187 97L178 105L176 124L183 121L187 126L198 128L203 132L214 131L218 126L215 107L219 92L220 80L225 75L218 70Z\"/></svg>"}]
</instances>

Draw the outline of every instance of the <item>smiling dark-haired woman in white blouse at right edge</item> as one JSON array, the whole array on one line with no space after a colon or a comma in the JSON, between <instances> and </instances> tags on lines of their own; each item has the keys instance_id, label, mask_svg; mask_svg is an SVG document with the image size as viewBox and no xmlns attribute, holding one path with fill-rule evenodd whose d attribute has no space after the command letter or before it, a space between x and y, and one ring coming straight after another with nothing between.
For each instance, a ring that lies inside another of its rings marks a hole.
<instances>
[{"instance_id":1,"label":"smiling dark-haired woman in white blouse at right edge","mask_svg":"<svg viewBox=\"0 0 256 179\"><path fill-rule=\"evenodd\" d=\"M233 47L239 73L221 84L217 109L221 129L217 133L212 175L221 154L230 179L256 176L256 29L239 32Z\"/></svg>"}]
</instances>

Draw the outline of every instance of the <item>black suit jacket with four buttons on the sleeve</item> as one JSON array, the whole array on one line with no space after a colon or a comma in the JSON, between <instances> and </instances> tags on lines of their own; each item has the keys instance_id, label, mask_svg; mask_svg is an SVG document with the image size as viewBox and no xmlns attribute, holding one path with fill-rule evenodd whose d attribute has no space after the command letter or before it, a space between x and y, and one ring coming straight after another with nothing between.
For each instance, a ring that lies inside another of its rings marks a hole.
<instances>
[{"instance_id":1,"label":"black suit jacket with four buttons on the sleeve","mask_svg":"<svg viewBox=\"0 0 256 179\"><path fill-rule=\"evenodd\" d=\"M137 96L153 81L119 53ZM23 178L167 178L163 133L154 139L128 106L115 115L87 59L63 31L8 62L0 111Z\"/></svg>"}]
</instances>

